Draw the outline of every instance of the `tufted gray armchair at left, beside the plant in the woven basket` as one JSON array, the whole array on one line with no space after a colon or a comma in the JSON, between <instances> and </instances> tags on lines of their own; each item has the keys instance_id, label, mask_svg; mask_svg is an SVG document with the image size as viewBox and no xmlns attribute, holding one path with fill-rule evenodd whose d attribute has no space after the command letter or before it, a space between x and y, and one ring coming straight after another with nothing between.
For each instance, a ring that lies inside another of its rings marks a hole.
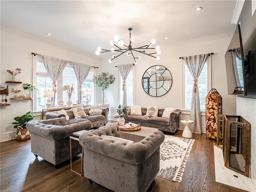
<instances>
[{"instance_id":1,"label":"tufted gray armchair at left, beside the plant in the woven basket","mask_svg":"<svg viewBox=\"0 0 256 192\"><path fill-rule=\"evenodd\" d=\"M80 130L89 130L89 120L67 124L65 117L55 119L29 121L27 128L31 133L31 152L44 160L58 164L70 159L69 136ZM81 146L72 140L72 157L81 153Z\"/></svg>"}]
</instances>

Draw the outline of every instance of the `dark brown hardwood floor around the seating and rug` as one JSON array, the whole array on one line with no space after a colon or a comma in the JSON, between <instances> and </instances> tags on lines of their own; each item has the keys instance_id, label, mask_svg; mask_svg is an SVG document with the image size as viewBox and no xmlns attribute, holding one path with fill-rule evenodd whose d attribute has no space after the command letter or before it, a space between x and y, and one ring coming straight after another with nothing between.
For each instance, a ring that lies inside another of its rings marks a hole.
<instances>
[{"instance_id":1,"label":"dark brown hardwood floor around the seating and rug","mask_svg":"<svg viewBox=\"0 0 256 192\"><path fill-rule=\"evenodd\" d=\"M181 137L182 131L174 136ZM195 143L182 182L156 177L148 192L244 192L215 182L213 143L205 135L193 135ZM80 159L75 161L77 167ZM79 168L79 167L78 167ZM218 173L216 173L218 174ZM1 192L111 192L87 178L70 172L68 162L56 169L30 152L30 140L0 143Z\"/></svg>"}]
</instances>

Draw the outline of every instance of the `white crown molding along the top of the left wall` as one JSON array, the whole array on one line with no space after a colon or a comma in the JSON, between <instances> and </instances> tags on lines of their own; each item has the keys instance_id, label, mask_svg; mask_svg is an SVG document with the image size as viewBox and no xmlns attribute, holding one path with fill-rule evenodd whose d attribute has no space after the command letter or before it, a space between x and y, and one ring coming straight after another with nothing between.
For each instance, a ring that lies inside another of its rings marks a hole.
<instances>
[{"instance_id":1,"label":"white crown molding along the top of the left wall","mask_svg":"<svg viewBox=\"0 0 256 192\"><path fill-rule=\"evenodd\" d=\"M76 53L79 53L79 54L82 54L82 55L86 55L86 56L89 56L89 57L97 58L96 55L88 53L86 51L82 51L81 49L72 48L72 47L67 46L65 44L61 44L61 43L57 43L57 42L54 42L54 41L46 40L44 38L40 38L40 37L31 35L31 34L28 34L28 33L25 33L25 32L21 32L21 31L12 29L12 28L8 28L6 26L2 26L1 25L0 26L0 30L4 31L4 32L11 33L11 34L15 34L15 35L18 35L18 36L22 36L24 38L32 39L32 40L35 40L35 41L38 41L38 42L42 42L42 43L45 43L45 44L49 44L51 46L55 46L55 47L58 47L58 48L66 49L68 51L72 51L72 52L76 52Z\"/></svg>"}]
</instances>

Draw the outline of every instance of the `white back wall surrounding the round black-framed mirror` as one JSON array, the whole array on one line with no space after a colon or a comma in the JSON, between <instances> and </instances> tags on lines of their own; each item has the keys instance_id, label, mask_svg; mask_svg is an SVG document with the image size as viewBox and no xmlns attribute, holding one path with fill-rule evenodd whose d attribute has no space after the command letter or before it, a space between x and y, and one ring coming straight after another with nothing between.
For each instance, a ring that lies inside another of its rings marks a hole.
<instances>
[{"instance_id":1,"label":"white back wall surrounding the round black-framed mirror","mask_svg":"<svg viewBox=\"0 0 256 192\"><path fill-rule=\"evenodd\" d=\"M161 46L160 61L156 61L154 58L147 55L141 55L142 59L135 65L135 105L141 105L147 107L150 105L159 106L160 108L174 107L182 109L182 60L181 56L197 55L203 53L214 52L212 55L212 88L218 90L223 98L223 114L235 115L236 114L236 96L228 95L228 87L226 80L226 67L224 54L231 41L231 37L228 35L222 35L218 37L211 37L208 39L194 40L191 42L183 42L171 46ZM139 40L136 40L139 44ZM142 42L143 43L143 42ZM104 53L102 53L104 54ZM108 53L105 53L108 54ZM102 71L109 71L114 74L118 79L118 69L115 67L120 64L127 64L132 62L131 57L122 55L113 60L112 63L108 63L108 58L111 55L102 58ZM149 67L152 65L163 65L167 67L172 73L173 83L170 91L162 97L151 97L145 93L142 89L141 79ZM105 101L110 103L110 119L116 113L118 106L118 90L119 83L116 81L114 85L111 85L106 90ZM180 119L189 119L190 111L182 110ZM180 129L183 129L184 125L180 124ZM202 129L205 133L205 113L202 113Z\"/></svg>"}]
</instances>

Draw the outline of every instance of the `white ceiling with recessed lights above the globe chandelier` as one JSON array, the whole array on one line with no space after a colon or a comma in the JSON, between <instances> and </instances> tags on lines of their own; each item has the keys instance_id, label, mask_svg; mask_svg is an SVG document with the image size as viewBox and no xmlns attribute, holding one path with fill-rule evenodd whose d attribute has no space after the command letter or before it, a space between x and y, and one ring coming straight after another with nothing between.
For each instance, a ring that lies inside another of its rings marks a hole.
<instances>
[{"instance_id":1,"label":"white ceiling with recessed lights above the globe chandelier","mask_svg":"<svg viewBox=\"0 0 256 192\"><path fill-rule=\"evenodd\" d=\"M196 11L198 6L202 10ZM231 21L235 6L236 0L1 0L0 22L1 26L95 54L98 46L110 49L109 42L116 34L127 45L128 28L133 28L136 47L152 38L156 45L164 46L234 33L236 26Z\"/></svg>"}]
</instances>

